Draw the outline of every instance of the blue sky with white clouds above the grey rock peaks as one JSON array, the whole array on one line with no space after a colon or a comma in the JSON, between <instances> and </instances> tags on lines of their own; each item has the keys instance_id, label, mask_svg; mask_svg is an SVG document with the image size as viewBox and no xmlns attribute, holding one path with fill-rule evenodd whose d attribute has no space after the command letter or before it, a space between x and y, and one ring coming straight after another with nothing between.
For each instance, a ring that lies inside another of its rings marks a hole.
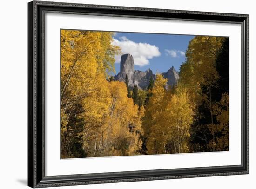
<instances>
[{"instance_id":1,"label":"blue sky with white clouds above the grey rock peaks","mask_svg":"<svg viewBox=\"0 0 256 189\"><path fill-rule=\"evenodd\" d=\"M114 45L121 47L122 53L134 57L135 70L145 71L150 68L153 73L166 72L174 66L179 71L185 61L185 52L189 41L195 36L153 34L153 33L115 33ZM115 70L120 72L120 58L116 56Z\"/></svg>"}]
</instances>

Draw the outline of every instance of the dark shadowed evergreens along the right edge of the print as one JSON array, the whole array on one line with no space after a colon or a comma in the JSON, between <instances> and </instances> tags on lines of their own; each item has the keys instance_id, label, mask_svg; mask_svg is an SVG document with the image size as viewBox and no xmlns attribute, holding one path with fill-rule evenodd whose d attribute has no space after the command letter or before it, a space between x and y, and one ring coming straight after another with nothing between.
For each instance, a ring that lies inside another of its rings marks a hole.
<instances>
[{"instance_id":1,"label":"dark shadowed evergreens along the right edge of the print","mask_svg":"<svg viewBox=\"0 0 256 189\"><path fill-rule=\"evenodd\" d=\"M225 104L225 102L228 102L225 94L228 94L229 91L228 44L229 39L225 39L220 50L216 52L214 67L218 78L215 84L210 85L210 87L203 83L200 85L201 96L204 96L207 100L199 101L195 109L194 121L190 130L191 150L194 152L228 150L228 124L225 123L224 115L227 113L225 111L228 107L228 104ZM222 97L224 98L222 99ZM219 114L222 114L222 123L218 118Z\"/></svg>"}]
</instances>

